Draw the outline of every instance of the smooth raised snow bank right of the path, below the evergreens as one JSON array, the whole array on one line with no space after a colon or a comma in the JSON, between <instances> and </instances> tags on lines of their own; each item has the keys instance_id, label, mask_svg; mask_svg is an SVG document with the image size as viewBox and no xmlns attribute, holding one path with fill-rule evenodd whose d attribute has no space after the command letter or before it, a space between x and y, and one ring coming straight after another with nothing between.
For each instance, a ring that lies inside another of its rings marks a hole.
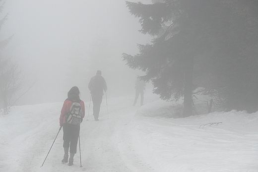
<instances>
[{"instance_id":1,"label":"smooth raised snow bank right of the path, below the evergreens","mask_svg":"<svg viewBox=\"0 0 258 172\"><path fill-rule=\"evenodd\" d=\"M140 108L132 127L134 148L154 169L258 171L258 113L231 111L175 119L164 117L162 104L168 106L157 101Z\"/></svg>"}]
</instances>

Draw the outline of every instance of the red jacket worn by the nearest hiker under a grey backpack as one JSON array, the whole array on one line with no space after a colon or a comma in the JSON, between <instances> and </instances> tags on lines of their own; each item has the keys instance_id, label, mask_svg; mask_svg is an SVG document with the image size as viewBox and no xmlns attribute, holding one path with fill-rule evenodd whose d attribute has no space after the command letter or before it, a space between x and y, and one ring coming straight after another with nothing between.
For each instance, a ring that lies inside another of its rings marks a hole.
<instances>
[{"instance_id":1,"label":"red jacket worn by the nearest hiker under a grey backpack","mask_svg":"<svg viewBox=\"0 0 258 172\"><path fill-rule=\"evenodd\" d=\"M73 101L76 101L76 100L73 100ZM65 100L63 108L61 110L61 115L60 115L60 118L59 118L60 126L63 123L66 123L65 113L69 112L71 104L72 104L71 101ZM80 102L80 106L81 106L81 109L82 109L82 117L84 117L85 116L85 107L84 107L84 102L83 101Z\"/></svg>"}]
</instances>

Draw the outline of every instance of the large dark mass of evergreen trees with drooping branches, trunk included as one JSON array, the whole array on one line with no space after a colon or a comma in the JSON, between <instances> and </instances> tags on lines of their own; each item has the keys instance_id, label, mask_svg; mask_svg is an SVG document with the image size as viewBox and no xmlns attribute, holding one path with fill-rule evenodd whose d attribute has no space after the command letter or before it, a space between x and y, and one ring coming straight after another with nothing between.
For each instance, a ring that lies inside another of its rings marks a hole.
<instances>
[{"instance_id":1,"label":"large dark mass of evergreen trees with drooping branches, trunk included","mask_svg":"<svg viewBox=\"0 0 258 172\"><path fill-rule=\"evenodd\" d=\"M246 105L258 102L258 0L126 4L140 18L140 32L154 39L124 60L146 72L142 79L162 99L184 96L183 116L192 114L193 85L216 90L223 110L251 110Z\"/></svg>"}]
</instances>

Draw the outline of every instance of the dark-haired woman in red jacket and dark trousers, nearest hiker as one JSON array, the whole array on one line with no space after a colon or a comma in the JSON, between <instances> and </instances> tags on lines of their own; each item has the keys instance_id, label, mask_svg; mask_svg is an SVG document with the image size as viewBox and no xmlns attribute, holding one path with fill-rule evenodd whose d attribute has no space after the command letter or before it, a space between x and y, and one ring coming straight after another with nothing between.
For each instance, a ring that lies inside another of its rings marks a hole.
<instances>
[{"instance_id":1,"label":"dark-haired woman in red jacket and dark trousers, nearest hiker","mask_svg":"<svg viewBox=\"0 0 258 172\"><path fill-rule=\"evenodd\" d=\"M64 159L62 160L62 163L68 163L68 151L70 149L70 158L68 166L73 165L73 157L76 154L77 151L77 142L78 142L78 136L80 132L80 123L82 121L82 118L85 116L85 107L84 102L80 100L79 98L79 89L78 87L74 86L72 87L69 92L67 93L68 98L65 100L63 108L61 110L60 115L60 126L63 125L63 131L64 131L64 150L65 155ZM77 106L74 106L74 102L77 102ZM72 106L72 107L71 107ZM75 113L78 113L77 110L79 110L79 115L81 117L77 119L77 123L74 124L74 122L69 122L67 120L67 117L71 109L75 107ZM77 109L76 109L77 108ZM79 121L78 121L79 120Z\"/></svg>"}]
</instances>

